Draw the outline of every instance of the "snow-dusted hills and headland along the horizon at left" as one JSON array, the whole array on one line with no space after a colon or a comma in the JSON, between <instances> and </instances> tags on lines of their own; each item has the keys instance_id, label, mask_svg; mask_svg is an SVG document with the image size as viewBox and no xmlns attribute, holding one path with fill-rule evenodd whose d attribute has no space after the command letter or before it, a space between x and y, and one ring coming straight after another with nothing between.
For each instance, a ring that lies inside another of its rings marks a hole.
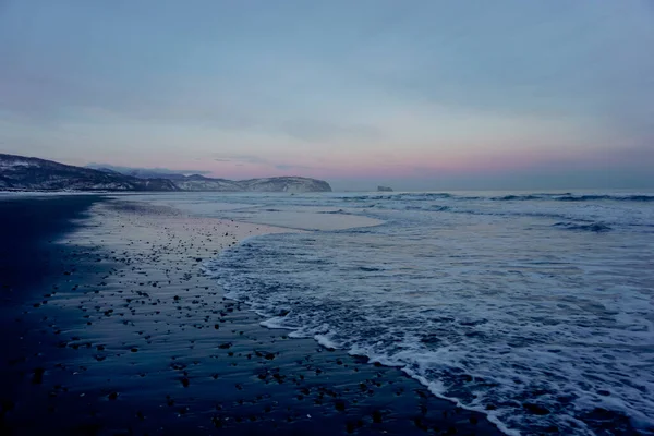
<instances>
[{"instance_id":1,"label":"snow-dusted hills and headland along the horizon at left","mask_svg":"<svg viewBox=\"0 0 654 436\"><path fill-rule=\"evenodd\" d=\"M331 192L329 183L323 180L300 177L233 181L199 174L138 174L0 154L0 191Z\"/></svg>"}]
</instances>

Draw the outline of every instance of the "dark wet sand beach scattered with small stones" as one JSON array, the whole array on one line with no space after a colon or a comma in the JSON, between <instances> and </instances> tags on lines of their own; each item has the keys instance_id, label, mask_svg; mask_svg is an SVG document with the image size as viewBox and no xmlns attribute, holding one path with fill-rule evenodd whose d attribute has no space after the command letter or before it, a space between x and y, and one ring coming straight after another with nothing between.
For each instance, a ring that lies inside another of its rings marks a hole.
<instances>
[{"instance_id":1,"label":"dark wet sand beach scattered with small stones","mask_svg":"<svg viewBox=\"0 0 654 436\"><path fill-rule=\"evenodd\" d=\"M399 368L262 327L202 272L243 238L288 230L93 196L21 202L0 202L5 434L499 434Z\"/></svg>"}]
</instances>

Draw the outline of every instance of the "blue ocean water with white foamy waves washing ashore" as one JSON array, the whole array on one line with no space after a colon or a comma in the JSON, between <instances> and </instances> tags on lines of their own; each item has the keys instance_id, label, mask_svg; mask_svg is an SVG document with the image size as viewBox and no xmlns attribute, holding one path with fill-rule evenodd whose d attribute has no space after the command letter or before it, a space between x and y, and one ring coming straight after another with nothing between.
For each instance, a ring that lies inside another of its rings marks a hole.
<instances>
[{"instance_id":1,"label":"blue ocean water with white foamy waves washing ashore","mask_svg":"<svg viewBox=\"0 0 654 436\"><path fill-rule=\"evenodd\" d=\"M206 264L267 327L402 367L507 434L654 434L652 193L155 199L303 229Z\"/></svg>"}]
</instances>

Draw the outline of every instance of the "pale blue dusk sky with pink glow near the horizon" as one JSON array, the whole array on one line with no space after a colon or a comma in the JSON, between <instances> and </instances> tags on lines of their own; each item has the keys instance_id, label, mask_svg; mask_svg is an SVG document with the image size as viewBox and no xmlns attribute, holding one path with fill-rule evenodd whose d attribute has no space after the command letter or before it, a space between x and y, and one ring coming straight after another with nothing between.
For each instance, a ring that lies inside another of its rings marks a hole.
<instances>
[{"instance_id":1,"label":"pale blue dusk sky with pink glow near the horizon","mask_svg":"<svg viewBox=\"0 0 654 436\"><path fill-rule=\"evenodd\" d=\"M652 0L0 0L0 152L337 190L654 187Z\"/></svg>"}]
</instances>

